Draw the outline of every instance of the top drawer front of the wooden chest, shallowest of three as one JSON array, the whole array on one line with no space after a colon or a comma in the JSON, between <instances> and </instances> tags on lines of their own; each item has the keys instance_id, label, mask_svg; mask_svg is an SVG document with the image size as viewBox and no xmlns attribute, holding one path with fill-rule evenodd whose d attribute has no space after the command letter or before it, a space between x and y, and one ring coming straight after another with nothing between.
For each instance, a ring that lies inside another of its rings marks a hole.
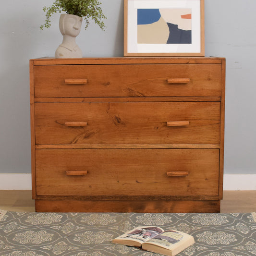
<instances>
[{"instance_id":1,"label":"top drawer front of the wooden chest, shallowest of three","mask_svg":"<svg viewBox=\"0 0 256 256\"><path fill-rule=\"evenodd\" d=\"M34 82L35 97L220 96L221 65L46 65Z\"/></svg>"}]
</instances>

